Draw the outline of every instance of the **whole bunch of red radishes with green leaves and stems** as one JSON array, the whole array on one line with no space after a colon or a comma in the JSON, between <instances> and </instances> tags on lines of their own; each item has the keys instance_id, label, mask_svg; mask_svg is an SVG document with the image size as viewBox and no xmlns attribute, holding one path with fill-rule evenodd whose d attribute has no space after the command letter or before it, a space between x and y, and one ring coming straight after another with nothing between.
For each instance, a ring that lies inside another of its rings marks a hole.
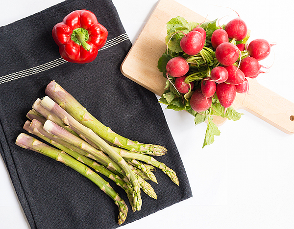
<instances>
[{"instance_id":1,"label":"whole bunch of red radishes with green leaves and stems","mask_svg":"<svg viewBox=\"0 0 294 229\"><path fill-rule=\"evenodd\" d=\"M221 133L214 116L241 118L231 105L237 93L248 92L247 78L264 72L259 61L269 56L272 46L264 39L248 44L250 30L240 17L218 23L172 18L167 23L167 50L157 66L167 77L159 102L167 109L186 110L195 116L196 125L207 121L203 147Z\"/></svg>"}]
</instances>

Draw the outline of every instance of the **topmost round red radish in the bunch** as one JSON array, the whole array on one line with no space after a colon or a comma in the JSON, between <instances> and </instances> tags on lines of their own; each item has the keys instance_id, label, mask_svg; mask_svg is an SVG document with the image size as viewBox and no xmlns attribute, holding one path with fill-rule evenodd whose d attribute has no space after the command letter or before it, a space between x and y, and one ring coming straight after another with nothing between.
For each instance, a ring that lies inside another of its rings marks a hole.
<instances>
[{"instance_id":1,"label":"topmost round red radish in the bunch","mask_svg":"<svg viewBox=\"0 0 294 229\"><path fill-rule=\"evenodd\" d=\"M247 25L240 18L235 18L228 22L224 29L228 33L229 38L235 39L236 41L243 40L247 35Z\"/></svg>"}]
</instances>

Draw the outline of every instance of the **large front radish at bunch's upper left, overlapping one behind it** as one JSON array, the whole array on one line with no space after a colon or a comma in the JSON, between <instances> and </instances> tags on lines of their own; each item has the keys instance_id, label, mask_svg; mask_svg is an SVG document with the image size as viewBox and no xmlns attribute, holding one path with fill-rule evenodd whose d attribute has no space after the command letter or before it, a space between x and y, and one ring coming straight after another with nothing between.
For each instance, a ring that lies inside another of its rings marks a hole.
<instances>
[{"instance_id":1,"label":"large front radish at bunch's upper left, overlapping one behind it","mask_svg":"<svg viewBox=\"0 0 294 229\"><path fill-rule=\"evenodd\" d=\"M190 56L198 54L204 47L205 40L198 31L190 31L180 41L182 50Z\"/></svg>"}]
</instances>

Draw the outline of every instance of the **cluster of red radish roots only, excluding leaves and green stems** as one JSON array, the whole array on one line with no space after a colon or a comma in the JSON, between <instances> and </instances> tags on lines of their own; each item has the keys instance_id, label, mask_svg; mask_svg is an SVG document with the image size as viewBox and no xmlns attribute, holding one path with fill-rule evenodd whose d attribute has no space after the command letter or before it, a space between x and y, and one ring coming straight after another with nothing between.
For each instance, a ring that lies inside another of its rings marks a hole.
<instances>
[{"instance_id":1,"label":"cluster of red radish roots only, excluding leaves and green stems","mask_svg":"<svg viewBox=\"0 0 294 229\"><path fill-rule=\"evenodd\" d=\"M248 92L246 77L255 78L263 72L259 61L269 56L272 45L264 39L253 40L249 45L240 43L247 33L247 26L240 18L216 29L210 42L217 64L208 71L207 77L192 82L187 80L192 63L185 57L201 53L206 44L206 30L198 25L187 34L183 33L180 40L183 53L167 62L166 71L168 79L170 76L175 77L174 87L177 92L192 94L190 106L194 111L199 113L209 109L213 97L226 110L233 104L237 92Z\"/></svg>"}]
</instances>

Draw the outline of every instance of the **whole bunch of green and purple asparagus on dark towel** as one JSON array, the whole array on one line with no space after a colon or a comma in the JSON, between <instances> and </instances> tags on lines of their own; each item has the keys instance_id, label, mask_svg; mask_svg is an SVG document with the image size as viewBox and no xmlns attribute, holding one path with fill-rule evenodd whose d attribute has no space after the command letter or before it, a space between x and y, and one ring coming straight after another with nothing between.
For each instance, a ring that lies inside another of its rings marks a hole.
<instances>
[{"instance_id":1,"label":"whole bunch of green and purple asparagus on dark towel","mask_svg":"<svg viewBox=\"0 0 294 229\"><path fill-rule=\"evenodd\" d=\"M60 161L98 185L119 207L118 224L126 219L127 205L98 173L123 188L134 212L142 206L141 189L157 199L147 182L157 183L152 172L155 167L179 185L175 172L153 157L164 155L166 148L116 134L55 81L48 84L45 93L47 96L38 98L27 113L24 129L50 145L25 133L17 137L16 144Z\"/></svg>"}]
</instances>

